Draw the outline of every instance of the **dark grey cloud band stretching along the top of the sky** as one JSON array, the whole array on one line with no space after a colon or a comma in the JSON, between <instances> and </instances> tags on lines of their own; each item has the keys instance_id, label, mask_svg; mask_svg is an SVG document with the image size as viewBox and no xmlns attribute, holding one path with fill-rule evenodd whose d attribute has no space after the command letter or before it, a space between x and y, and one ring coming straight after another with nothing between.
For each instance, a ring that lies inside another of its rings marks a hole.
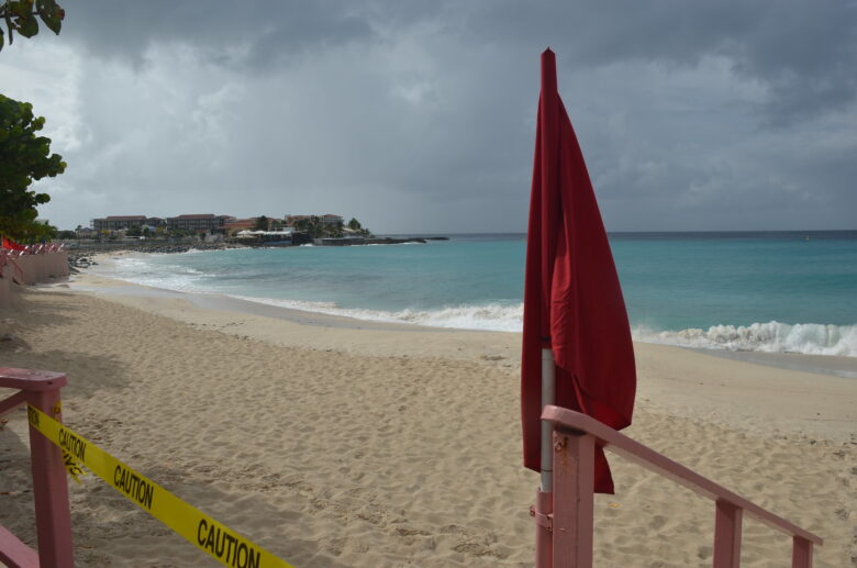
<instances>
[{"instance_id":1,"label":"dark grey cloud band stretching along the top of the sky","mask_svg":"<svg viewBox=\"0 0 857 568\"><path fill-rule=\"evenodd\" d=\"M471 44L546 44L570 69L624 60L693 66L728 57L734 70L761 81L759 107L776 124L842 107L857 96L857 2L800 0L693 2L223 2L92 1L69 12L68 36L91 53L136 64L153 43L186 42L225 65L229 46L246 46L238 65L266 70L272 60L348 42L380 41L378 25L407 30L435 22L474 34ZM466 47L466 46L465 46Z\"/></svg>"}]
</instances>

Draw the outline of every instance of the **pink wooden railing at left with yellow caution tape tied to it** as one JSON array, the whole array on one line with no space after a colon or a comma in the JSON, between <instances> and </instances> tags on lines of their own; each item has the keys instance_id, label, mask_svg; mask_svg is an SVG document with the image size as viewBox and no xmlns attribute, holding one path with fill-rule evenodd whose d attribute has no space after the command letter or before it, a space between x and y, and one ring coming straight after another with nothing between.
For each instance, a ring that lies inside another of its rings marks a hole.
<instances>
[{"instance_id":1,"label":"pink wooden railing at left with yellow caution tape tied to it","mask_svg":"<svg viewBox=\"0 0 857 568\"><path fill-rule=\"evenodd\" d=\"M59 389L68 383L59 372L0 367L0 388L15 389L0 400L0 416L27 402L62 421ZM38 553L0 526L0 563L12 567L73 567L71 516L63 453L38 431L30 428L36 538Z\"/></svg>"}]
</instances>

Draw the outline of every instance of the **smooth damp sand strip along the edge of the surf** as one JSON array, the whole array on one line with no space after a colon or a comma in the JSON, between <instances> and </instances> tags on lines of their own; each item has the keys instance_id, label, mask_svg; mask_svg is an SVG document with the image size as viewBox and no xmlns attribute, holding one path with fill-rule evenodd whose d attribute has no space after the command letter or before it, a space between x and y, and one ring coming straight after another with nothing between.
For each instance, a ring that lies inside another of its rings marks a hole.
<instances>
[{"instance_id":1,"label":"smooth damp sand strip along the edge of the surf","mask_svg":"<svg viewBox=\"0 0 857 568\"><path fill-rule=\"evenodd\" d=\"M278 347L311 349L314 352L368 355L374 357L433 357L441 359L478 360L502 372L517 377L521 361L520 332L472 331L449 327L427 327L408 323L388 323L357 320L341 315L305 312L274 307L236 298L180 292L147 287L101 276L89 276L84 286L90 290L73 293L94 298L142 310L190 325L196 330L225 333L243 341L257 341ZM82 283L82 282L81 282ZM62 285L60 285L62 286ZM48 289L45 289L46 291ZM795 427L801 424L806 432L821 436L838 436L836 427L826 427L823 420L850 421L857 419L843 401L825 398L824 402L808 404L804 397L816 389L825 392L832 387L839 392L857 393L857 381L831 372L819 372L816 359L836 361L846 359L857 367L857 360L831 356L803 354L764 354L759 360L744 360L738 356L724 356L713 349L693 349L683 346L634 342L637 375L663 372L661 359L670 361L670 378L657 392L668 401L672 412L691 416L704 412L716 420L731 421L735 416L753 415L753 422L766 431ZM726 353L726 352L723 352ZM734 355L734 352L728 352ZM750 352L744 352L750 353ZM778 356L784 357L778 357ZM783 360L784 359L784 360ZM843 363L843 361L839 361ZM823 368L830 369L834 363ZM848 367L849 369L852 367ZM672 387L693 391L677 394ZM725 389L724 389L725 387ZM730 397L741 393L743 400L727 408ZM766 400L778 393L780 404L768 409ZM649 399L657 404L659 397ZM700 399L701 397L701 399ZM719 400L719 410L712 414L704 400ZM855 400L857 403L857 400ZM825 405L830 405L825 408ZM767 409L764 412L759 409ZM789 412L782 414L783 409ZM826 419L819 420L826 415ZM831 419L831 416L835 416ZM847 417L844 417L847 416Z\"/></svg>"}]
</instances>

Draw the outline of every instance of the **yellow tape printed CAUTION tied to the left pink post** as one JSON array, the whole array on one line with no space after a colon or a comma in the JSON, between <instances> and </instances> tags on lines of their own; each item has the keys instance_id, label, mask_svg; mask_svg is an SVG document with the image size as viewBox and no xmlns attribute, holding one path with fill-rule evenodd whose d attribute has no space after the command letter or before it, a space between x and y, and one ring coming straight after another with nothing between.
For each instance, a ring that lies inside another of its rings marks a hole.
<instances>
[{"instance_id":1,"label":"yellow tape printed CAUTION tied to the left pink post","mask_svg":"<svg viewBox=\"0 0 857 568\"><path fill-rule=\"evenodd\" d=\"M84 436L27 404L30 425L59 446L73 463L89 468L142 510L231 568L291 565L186 503Z\"/></svg>"}]
</instances>

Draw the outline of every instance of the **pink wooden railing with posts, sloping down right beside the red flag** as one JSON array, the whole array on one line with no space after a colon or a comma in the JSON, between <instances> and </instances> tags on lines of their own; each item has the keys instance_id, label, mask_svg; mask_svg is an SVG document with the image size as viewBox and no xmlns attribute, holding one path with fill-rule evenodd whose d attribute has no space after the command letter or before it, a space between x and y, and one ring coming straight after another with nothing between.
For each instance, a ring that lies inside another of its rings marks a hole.
<instances>
[{"instance_id":1,"label":"pink wooden railing with posts, sloping down right beside the red flag","mask_svg":"<svg viewBox=\"0 0 857 568\"><path fill-rule=\"evenodd\" d=\"M714 501L714 568L738 568L742 516L746 512L792 538L792 568L812 567L821 537L672 461L591 416L547 405L542 420L554 425L554 510L548 525L555 568L592 566L593 464L596 444ZM544 530L544 526L538 530Z\"/></svg>"}]
</instances>

